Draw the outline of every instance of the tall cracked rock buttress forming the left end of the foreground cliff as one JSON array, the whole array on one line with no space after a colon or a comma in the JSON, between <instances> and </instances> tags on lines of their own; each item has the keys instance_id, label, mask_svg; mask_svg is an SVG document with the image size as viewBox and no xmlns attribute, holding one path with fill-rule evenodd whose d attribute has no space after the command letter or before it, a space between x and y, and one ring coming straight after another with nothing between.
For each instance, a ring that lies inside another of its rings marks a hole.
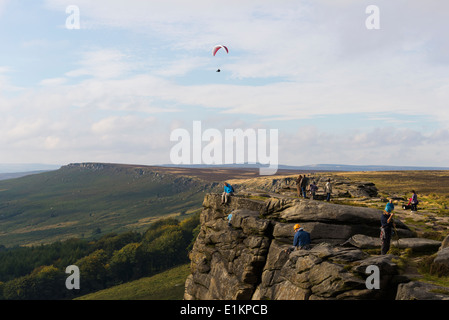
<instances>
[{"instance_id":1,"label":"tall cracked rock buttress forming the left end of the foreground cliff","mask_svg":"<svg viewBox=\"0 0 449 320\"><path fill-rule=\"evenodd\" d=\"M203 210L204 223L189 255L192 274L186 281L185 299L251 298L270 246L270 221L248 209L232 214L230 227L226 216Z\"/></svg>"}]
</instances>

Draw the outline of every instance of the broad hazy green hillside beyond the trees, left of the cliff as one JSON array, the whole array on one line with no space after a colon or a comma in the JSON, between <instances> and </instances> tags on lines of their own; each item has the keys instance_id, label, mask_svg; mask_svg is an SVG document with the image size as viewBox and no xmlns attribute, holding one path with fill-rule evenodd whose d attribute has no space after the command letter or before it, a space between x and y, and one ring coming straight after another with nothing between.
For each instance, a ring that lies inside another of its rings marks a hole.
<instances>
[{"instance_id":1,"label":"broad hazy green hillside beyond the trees, left of the cliff","mask_svg":"<svg viewBox=\"0 0 449 320\"><path fill-rule=\"evenodd\" d=\"M51 243L143 230L201 206L215 184L153 167L71 164L0 181L0 244Z\"/></svg>"}]
</instances>

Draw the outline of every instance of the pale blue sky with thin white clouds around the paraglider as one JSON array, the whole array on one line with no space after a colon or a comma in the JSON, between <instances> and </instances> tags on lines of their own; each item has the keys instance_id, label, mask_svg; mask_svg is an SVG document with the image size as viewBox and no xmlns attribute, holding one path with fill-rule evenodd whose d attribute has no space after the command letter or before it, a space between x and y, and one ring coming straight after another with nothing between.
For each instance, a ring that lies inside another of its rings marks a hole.
<instances>
[{"instance_id":1,"label":"pale blue sky with thin white clouds around the paraglider","mask_svg":"<svg viewBox=\"0 0 449 320\"><path fill-rule=\"evenodd\" d=\"M168 164L200 121L284 165L447 166L448 30L438 0L0 0L0 163Z\"/></svg>"}]
</instances>

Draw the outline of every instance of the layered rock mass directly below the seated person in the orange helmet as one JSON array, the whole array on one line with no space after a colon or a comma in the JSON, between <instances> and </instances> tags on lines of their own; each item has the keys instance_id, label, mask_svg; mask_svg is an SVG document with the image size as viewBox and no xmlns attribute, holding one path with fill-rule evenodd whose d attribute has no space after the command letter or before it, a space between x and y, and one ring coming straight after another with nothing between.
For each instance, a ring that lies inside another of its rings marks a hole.
<instances>
[{"instance_id":1,"label":"layered rock mass directly below the seated person in the orange helmet","mask_svg":"<svg viewBox=\"0 0 449 320\"><path fill-rule=\"evenodd\" d=\"M394 297L398 267L393 256L375 259L357 248L321 243L311 250L285 252L276 241L270 247L262 282L253 299L323 300L323 299L391 299ZM379 267L380 289L368 289L368 266Z\"/></svg>"}]
</instances>

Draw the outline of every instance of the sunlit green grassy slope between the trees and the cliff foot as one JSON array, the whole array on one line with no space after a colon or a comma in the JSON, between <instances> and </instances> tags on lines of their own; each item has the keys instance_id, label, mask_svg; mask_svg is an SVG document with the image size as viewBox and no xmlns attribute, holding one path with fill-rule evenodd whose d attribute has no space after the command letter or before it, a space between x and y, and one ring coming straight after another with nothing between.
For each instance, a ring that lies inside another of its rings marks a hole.
<instances>
[{"instance_id":1,"label":"sunlit green grassy slope between the trees and the cliff foot","mask_svg":"<svg viewBox=\"0 0 449 320\"><path fill-rule=\"evenodd\" d=\"M184 284L189 274L190 264L185 264L152 277L104 289L76 300L182 300Z\"/></svg>"}]
</instances>

